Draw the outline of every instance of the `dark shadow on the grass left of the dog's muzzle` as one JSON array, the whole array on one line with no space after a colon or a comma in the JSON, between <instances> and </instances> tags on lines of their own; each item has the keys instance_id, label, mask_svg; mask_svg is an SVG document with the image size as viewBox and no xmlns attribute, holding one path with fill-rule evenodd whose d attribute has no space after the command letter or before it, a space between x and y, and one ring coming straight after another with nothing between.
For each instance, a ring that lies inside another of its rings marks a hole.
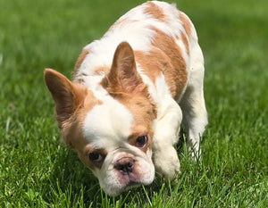
<instances>
[{"instance_id":1,"label":"dark shadow on the grass left of the dog's muzzle","mask_svg":"<svg viewBox=\"0 0 268 208\"><path fill-rule=\"evenodd\" d=\"M60 145L54 153L52 171L46 181L43 198L48 204L75 207L98 201L100 187L93 173L80 162L77 154Z\"/></svg>"}]
</instances>

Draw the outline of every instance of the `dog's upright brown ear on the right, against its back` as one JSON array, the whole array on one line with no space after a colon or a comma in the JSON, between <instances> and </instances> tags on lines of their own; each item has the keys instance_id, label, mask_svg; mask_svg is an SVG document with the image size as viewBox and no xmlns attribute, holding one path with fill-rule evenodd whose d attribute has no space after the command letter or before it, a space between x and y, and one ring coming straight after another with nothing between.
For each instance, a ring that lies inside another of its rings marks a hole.
<instances>
[{"instance_id":1,"label":"dog's upright brown ear on the right, against its back","mask_svg":"<svg viewBox=\"0 0 268 208\"><path fill-rule=\"evenodd\" d=\"M138 93L145 85L136 69L133 50L129 43L122 42L113 55L113 64L107 77L108 91Z\"/></svg>"}]
</instances>

